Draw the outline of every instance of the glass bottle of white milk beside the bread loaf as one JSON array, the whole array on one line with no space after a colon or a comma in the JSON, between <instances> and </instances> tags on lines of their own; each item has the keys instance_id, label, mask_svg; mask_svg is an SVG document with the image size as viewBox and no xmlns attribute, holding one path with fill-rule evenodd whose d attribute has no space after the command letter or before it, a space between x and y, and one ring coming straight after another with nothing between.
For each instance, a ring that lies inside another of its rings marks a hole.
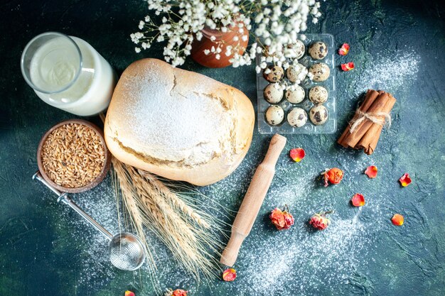
<instances>
[{"instance_id":1,"label":"glass bottle of white milk beside the bread loaf","mask_svg":"<svg viewBox=\"0 0 445 296\"><path fill-rule=\"evenodd\" d=\"M56 32L38 35L26 45L21 71L43 102L80 116L107 109L117 80L90 44Z\"/></svg>"}]
</instances>

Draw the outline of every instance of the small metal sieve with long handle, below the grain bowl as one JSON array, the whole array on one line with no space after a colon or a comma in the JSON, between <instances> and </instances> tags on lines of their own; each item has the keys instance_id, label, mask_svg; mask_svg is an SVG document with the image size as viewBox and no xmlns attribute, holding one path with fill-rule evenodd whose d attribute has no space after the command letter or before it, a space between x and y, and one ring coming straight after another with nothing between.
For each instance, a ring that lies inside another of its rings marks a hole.
<instances>
[{"instance_id":1,"label":"small metal sieve with long handle, below the grain bowl","mask_svg":"<svg viewBox=\"0 0 445 296\"><path fill-rule=\"evenodd\" d=\"M145 261L145 248L141 240L134 234L128 232L120 232L119 234L112 235L104 229L99 223L92 219L90 215L83 212L80 207L73 202L73 199L68 197L68 193L60 192L52 187L45 179L43 179L40 172L36 172L33 175L33 180L42 182L46 187L52 190L58 195L58 202L68 204L72 209L80 214L85 220L87 220L95 229L99 230L109 240L109 260L112 265L121 270L136 270L141 267Z\"/></svg>"}]
</instances>

